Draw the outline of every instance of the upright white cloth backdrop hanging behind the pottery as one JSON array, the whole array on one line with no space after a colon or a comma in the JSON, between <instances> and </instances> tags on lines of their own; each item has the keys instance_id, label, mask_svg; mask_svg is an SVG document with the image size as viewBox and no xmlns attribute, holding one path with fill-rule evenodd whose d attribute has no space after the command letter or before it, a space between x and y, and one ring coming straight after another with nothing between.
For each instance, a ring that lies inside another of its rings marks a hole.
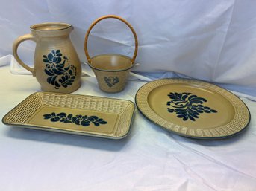
<instances>
[{"instance_id":1,"label":"upright white cloth backdrop hanging behind the pottery","mask_svg":"<svg viewBox=\"0 0 256 191\"><path fill-rule=\"evenodd\" d=\"M67 22L75 27L72 42L81 62L84 35L93 20L116 14L133 25L139 39L135 71L175 71L211 82L256 87L256 1L2 1L0 56L12 54L16 37L40 22ZM90 54L132 55L128 27L105 20L90 36ZM19 54L32 63L34 43ZM256 94L256 93L255 93Z\"/></svg>"}]
</instances>

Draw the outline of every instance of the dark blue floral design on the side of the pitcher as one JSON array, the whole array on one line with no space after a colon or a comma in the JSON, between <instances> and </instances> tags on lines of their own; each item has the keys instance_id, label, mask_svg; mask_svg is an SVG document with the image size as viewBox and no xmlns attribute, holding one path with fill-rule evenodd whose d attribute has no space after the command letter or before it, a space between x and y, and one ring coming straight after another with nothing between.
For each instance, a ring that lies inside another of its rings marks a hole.
<instances>
[{"instance_id":1,"label":"dark blue floral design on the side of the pitcher","mask_svg":"<svg viewBox=\"0 0 256 191\"><path fill-rule=\"evenodd\" d=\"M60 50L52 50L47 56L43 55L43 62L46 63L45 73L49 76L47 82L58 89L72 85L76 77L76 67L69 63L66 56L62 57Z\"/></svg>"}]
</instances>

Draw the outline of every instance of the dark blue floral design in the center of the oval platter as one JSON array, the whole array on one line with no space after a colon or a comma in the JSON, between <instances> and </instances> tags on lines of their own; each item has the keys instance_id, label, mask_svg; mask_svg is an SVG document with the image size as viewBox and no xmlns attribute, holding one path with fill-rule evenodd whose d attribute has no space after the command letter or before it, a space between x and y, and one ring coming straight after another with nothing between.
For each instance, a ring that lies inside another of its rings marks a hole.
<instances>
[{"instance_id":1,"label":"dark blue floral design in the center of the oval platter","mask_svg":"<svg viewBox=\"0 0 256 191\"><path fill-rule=\"evenodd\" d=\"M199 118L199 115L202 113L216 113L214 109L210 107L203 106L203 103L207 102L205 98L197 97L191 93L180 93L177 92L168 94L171 101L167 102L167 106L172 106L168 108L167 111L170 113L176 113L177 117L182 118L183 120L193 120L196 121L196 118Z\"/></svg>"}]
</instances>

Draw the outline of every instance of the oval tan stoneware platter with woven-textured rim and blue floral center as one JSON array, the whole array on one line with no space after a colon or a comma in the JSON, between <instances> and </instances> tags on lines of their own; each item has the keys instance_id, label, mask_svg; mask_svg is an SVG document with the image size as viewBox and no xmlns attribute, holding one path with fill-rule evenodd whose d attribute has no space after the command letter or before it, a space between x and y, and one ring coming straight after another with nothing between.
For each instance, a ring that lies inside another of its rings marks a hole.
<instances>
[{"instance_id":1,"label":"oval tan stoneware platter with woven-textured rim and blue floral center","mask_svg":"<svg viewBox=\"0 0 256 191\"><path fill-rule=\"evenodd\" d=\"M240 98L201 80L154 80L137 91L135 100L147 119L185 137L231 137L250 122L249 109Z\"/></svg>"}]
</instances>

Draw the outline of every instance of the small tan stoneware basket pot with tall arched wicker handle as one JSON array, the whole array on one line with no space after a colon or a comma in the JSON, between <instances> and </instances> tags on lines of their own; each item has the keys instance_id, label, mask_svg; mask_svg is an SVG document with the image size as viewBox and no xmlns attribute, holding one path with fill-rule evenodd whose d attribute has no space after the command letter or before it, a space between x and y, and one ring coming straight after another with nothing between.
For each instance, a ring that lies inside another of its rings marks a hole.
<instances>
[{"instance_id":1,"label":"small tan stoneware basket pot with tall arched wicker handle","mask_svg":"<svg viewBox=\"0 0 256 191\"><path fill-rule=\"evenodd\" d=\"M87 41L90 31L93 29L94 25L96 25L102 19L108 18L119 19L120 21L128 25L128 27L131 29L131 32L134 34L135 40L134 56L132 58L119 54L102 54L98 56L93 56L92 58L89 56L87 50ZM87 34L84 40L84 51L85 55L87 56L88 64L90 68L93 69L93 72L96 75L99 88L102 91L108 93L116 93L122 91L125 88L128 75L131 71L131 68L134 67L137 50L138 40L134 28L127 21L125 21L125 19L122 19L119 16L109 15L102 16L99 19L96 19L96 21L93 22L93 24L87 30Z\"/></svg>"}]
</instances>

